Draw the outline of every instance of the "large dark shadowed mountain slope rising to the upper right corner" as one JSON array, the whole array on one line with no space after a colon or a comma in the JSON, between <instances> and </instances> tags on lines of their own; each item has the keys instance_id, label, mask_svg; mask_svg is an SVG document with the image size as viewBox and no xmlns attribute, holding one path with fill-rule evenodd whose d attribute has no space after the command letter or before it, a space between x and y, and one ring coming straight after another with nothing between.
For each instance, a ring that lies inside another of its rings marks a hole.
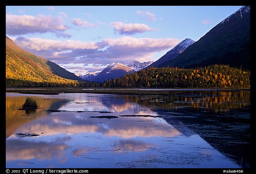
<instances>
[{"instance_id":1,"label":"large dark shadowed mountain slope rising to the upper right corner","mask_svg":"<svg viewBox=\"0 0 256 174\"><path fill-rule=\"evenodd\" d=\"M228 64L250 69L250 6L243 6L213 27L175 59L159 67Z\"/></svg>"}]
</instances>

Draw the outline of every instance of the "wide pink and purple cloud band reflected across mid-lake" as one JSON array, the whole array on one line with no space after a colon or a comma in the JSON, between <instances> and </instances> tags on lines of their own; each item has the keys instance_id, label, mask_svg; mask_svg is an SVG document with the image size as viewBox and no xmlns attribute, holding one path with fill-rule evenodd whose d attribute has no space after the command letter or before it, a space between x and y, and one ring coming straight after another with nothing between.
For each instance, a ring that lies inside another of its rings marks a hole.
<instances>
[{"instance_id":1,"label":"wide pink and purple cloud band reflected across mid-lake","mask_svg":"<svg viewBox=\"0 0 256 174\"><path fill-rule=\"evenodd\" d=\"M24 127L20 127L16 132L33 132L36 134L44 134L40 136L60 135L60 134L80 134L80 133L101 133L108 137L120 137L129 139L132 137L152 137L152 136L176 136L180 132L172 128L168 124L162 124L161 128L156 127L159 122L165 122L160 119L155 122L152 118L124 118L119 117L115 120L82 118L77 119L76 113L54 113L51 117L37 119L33 123L28 123ZM91 113L90 115L96 115ZM142 127L141 122L146 122ZM132 123L132 124L129 124ZM15 135L13 135L15 136Z\"/></svg>"}]
</instances>

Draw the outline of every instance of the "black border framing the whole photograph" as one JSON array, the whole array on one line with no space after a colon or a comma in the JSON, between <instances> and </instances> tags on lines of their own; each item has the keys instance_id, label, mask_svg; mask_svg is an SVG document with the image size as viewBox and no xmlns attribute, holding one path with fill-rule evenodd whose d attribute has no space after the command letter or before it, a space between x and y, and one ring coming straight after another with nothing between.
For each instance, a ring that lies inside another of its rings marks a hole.
<instances>
[{"instance_id":1,"label":"black border framing the whole photograph","mask_svg":"<svg viewBox=\"0 0 256 174\"><path fill-rule=\"evenodd\" d=\"M168 5L171 5L171 6L176 6L176 5L180 5L180 6L184 6L184 5L188 5L188 6L194 6L194 5L198 5L198 6L202 6L202 5L207 5L207 6L212 6L212 5L238 5L238 6L243 6L243 5L250 5L251 6L251 21L254 22L253 20L253 17L255 16L255 12L254 12L254 9L255 9L255 6L252 4L252 0L240 0L240 1L229 1L229 0L222 0L222 1L207 1L207 0L157 0L157 1L147 1L147 0L140 0L140 1L108 1L108 0L105 0L105 1L88 1L88 0L72 0L72 1L35 1L35 0L19 0L19 1L13 1L13 0L4 0L1 2L1 4L3 3L3 5L1 5L1 7L3 8L2 9L2 13L4 13L6 11L5 9L5 6L12 6L12 5L21 5L21 6L31 6L31 5L49 5L49 6L53 6L53 5L56 5L56 6L75 6L75 5L87 5L87 6L90 6L90 5L96 5L96 6L109 6L109 5L114 5L114 6L134 6L134 5L141 5L141 6L144 6L144 5L147 5L147 6L168 6ZM3 14L4 15L4 14ZM3 19L3 18L2 18ZM4 19L3 19L4 20ZM254 36L254 32L256 30L254 30L254 23L251 23L251 38L253 38ZM4 39L4 37L2 36L2 38ZM4 44L4 41L1 42L2 44ZM252 41L251 41L251 47L254 46L252 45ZM2 47L4 48L4 46ZM2 54L4 54L4 50L1 52ZM4 57L4 55L3 55ZM255 106L255 91L253 90L254 89L254 83L255 83L255 70L254 70L254 59L255 59L255 56L254 56L254 52L251 51L251 108L254 108ZM1 63L1 65L3 66L3 68L1 68L1 70L3 70L3 72L1 74L4 74L4 62ZM3 85L3 88L5 86ZM3 89L4 91L4 89ZM1 97L2 99L5 99L5 94L3 93L3 97ZM3 101L4 102L4 101ZM5 105L5 104L4 104ZM4 108L3 108L4 109ZM182 168L171 168L171 169L137 169L137 168L132 168L132 169L86 169L89 171L89 173L98 173L98 172L164 172L164 171L170 171L170 172L175 172L175 173L207 173L207 172L211 172L211 173L216 173L216 174L222 174L223 173L223 170L243 170L243 174L248 174L248 173L252 173L255 172L255 169L256 169L256 162L255 162L255 158L254 158L254 155L256 155L256 151L255 151L255 147L256 147L256 144L255 144L255 138L256 138L256 130L255 130L255 127L254 127L254 123L255 123L255 114L254 114L255 110L254 109L251 109L251 168L250 169L202 169L202 168L193 168L193 169L190 169L190 168L186 168L186 169L182 169ZM5 123L5 117L2 116L2 123L4 124ZM4 135L4 132L5 132L5 126L1 126L2 127L2 138L5 136ZM4 138L3 138L4 139ZM5 141L3 141L3 143L5 144ZM4 155L3 155L3 158L1 158L1 161L0 161L0 169L4 170L4 173L6 171L6 168L5 168L5 162L4 162ZM3 160L3 161L2 161ZM77 170L80 170L79 168L75 168ZM0 171L2 171L0 170ZM11 169L10 169L11 170ZM40 170L40 169L39 169ZM45 170L45 169L44 169ZM57 170L57 169L56 169ZM63 170L63 169L60 169L60 170ZM22 173L22 169L20 169L20 173Z\"/></svg>"}]
</instances>

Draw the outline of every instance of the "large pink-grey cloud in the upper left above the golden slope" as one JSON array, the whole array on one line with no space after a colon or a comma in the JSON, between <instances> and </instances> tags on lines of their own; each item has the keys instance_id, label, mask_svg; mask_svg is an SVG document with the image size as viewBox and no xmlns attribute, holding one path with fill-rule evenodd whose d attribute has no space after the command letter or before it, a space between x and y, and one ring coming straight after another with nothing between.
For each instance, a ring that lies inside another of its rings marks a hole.
<instances>
[{"instance_id":1,"label":"large pink-grey cloud in the upper left above the golden slope","mask_svg":"<svg viewBox=\"0 0 256 174\"><path fill-rule=\"evenodd\" d=\"M57 37L70 38L64 31L69 29L61 17L54 19L51 15L11 15L6 14L6 34L26 35L31 33L54 33Z\"/></svg>"}]
</instances>

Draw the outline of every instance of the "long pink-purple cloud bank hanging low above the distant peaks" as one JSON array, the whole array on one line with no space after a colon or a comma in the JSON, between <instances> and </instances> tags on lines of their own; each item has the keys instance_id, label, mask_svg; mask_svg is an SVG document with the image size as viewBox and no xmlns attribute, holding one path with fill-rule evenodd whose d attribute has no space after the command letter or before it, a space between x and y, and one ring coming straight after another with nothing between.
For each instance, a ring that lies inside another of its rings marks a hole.
<instances>
[{"instance_id":1,"label":"long pink-purple cloud bank hanging low above the distant peaks","mask_svg":"<svg viewBox=\"0 0 256 174\"><path fill-rule=\"evenodd\" d=\"M156 52L171 49L180 42L172 38L108 38L100 42L75 40L50 40L19 37L14 42L42 58L58 64L109 64L111 62L130 63L131 60L149 60Z\"/></svg>"}]
</instances>

